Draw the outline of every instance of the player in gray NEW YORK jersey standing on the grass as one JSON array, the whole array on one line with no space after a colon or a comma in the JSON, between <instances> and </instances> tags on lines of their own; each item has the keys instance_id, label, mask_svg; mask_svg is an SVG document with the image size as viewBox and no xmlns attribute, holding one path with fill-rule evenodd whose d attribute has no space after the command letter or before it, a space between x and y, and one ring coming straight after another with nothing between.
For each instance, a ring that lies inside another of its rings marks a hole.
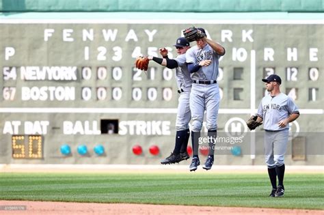
<instances>
[{"instance_id":1,"label":"player in gray NEW YORK jersey standing on the grass","mask_svg":"<svg viewBox=\"0 0 324 215\"><path fill-rule=\"evenodd\" d=\"M265 129L265 162L272 185L269 197L284 196L284 154L288 143L289 123L299 117L295 102L280 92L281 78L276 74L262 79L269 94L258 106L258 118ZM278 177L278 186L277 186Z\"/></svg>"}]
</instances>

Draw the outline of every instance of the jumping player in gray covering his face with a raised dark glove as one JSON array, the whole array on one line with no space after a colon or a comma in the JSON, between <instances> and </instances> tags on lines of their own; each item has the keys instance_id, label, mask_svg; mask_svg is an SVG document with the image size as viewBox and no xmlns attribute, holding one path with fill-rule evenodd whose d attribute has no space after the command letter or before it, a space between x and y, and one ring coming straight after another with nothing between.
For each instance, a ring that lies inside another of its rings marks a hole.
<instances>
[{"instance_id":1,"label":"jumping player in gray covering his face with a raised dark glove","mask_svg":"<svg viewBox=\"0 0 324 215\"><path fill-rule=\"evenodd\" d=\"M206 35L204 29L198 28L198 30ZM190 171L195 171L200 165L198 141L200 139L202 122L204 121L204 111L206 111L209 152L202 168L209 170L213 166L215 149L213 140L217 136L217 117L220 100L217 84L218 66L219 57L225 55L225 48L206 38L206 36L195 42L196 45L191 47L186 53L187 67L193 82L190 94L191 141L193 147Z\"/></svg>"}]
</instances>

